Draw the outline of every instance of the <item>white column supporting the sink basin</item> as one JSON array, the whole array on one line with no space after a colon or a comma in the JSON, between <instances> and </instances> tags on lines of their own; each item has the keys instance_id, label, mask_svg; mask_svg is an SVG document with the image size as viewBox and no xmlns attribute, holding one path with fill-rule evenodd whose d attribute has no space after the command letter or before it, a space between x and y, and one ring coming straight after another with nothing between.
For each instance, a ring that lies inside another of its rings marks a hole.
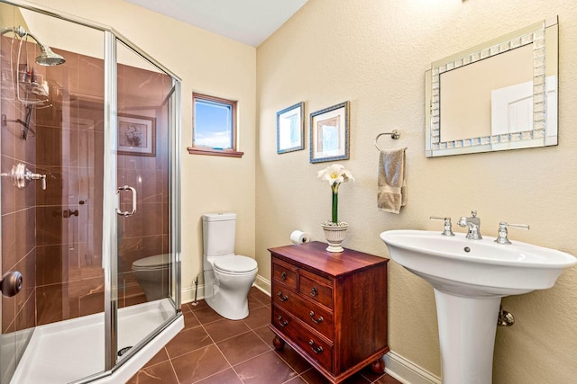
<instances>
[{"instance_id":1,"label":"white column supporting the sink basin","mask_svg":"<svg viewBox=\"0 0 577 384\"><path fill-rule=\"evenodd\" d=\"M490 384L500 297L467 298L435 289L443 384Z\"/></svg>"}]
</instances>

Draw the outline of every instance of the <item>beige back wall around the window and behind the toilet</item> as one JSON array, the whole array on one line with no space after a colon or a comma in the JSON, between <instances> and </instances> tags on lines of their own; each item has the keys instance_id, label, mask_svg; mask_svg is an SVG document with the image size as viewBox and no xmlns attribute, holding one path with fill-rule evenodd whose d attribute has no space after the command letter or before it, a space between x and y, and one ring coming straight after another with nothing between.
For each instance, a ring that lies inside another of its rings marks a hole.
<instances>
[{"instance_id":1,"label":"beige back wall around the window and behind the toilet","mask_svg":"<svg viewBox=\"0 0 577 384\"><path fill-rule=\"evenodd\" d=\"M193 281L202 270L203 213L236 212L236 250L253 256L256 49L122 0L35 3L112 26L182 79L183 299L188 299ZM193 91L238 100L243 158L188 155Z\"/></svg>"}]
</instances>

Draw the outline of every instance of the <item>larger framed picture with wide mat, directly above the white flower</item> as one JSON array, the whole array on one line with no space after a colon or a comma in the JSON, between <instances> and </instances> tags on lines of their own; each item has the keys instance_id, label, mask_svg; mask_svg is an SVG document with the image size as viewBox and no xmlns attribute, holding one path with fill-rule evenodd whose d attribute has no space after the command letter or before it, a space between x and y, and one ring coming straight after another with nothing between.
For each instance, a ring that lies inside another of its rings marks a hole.
<instances>
[{"instance_id":1,"label":"larger framed picture with wide mat, directly above the white flower","mask_svg":"<svg viewBox=\"0 0 577 384\"><path fill-rule=\"evenodd\" d=\"M310 162L349 158L349 102L310 114Z\"/></svg>"}]
</instances>

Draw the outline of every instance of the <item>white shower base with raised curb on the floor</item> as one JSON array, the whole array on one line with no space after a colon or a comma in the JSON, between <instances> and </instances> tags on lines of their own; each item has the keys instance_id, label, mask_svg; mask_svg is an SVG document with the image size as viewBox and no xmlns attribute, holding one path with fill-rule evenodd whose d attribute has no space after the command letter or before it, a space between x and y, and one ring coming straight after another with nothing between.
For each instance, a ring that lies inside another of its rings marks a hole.
<instances>
[{"instance_id":1,"label":"white shower base with raised curb on the floor","mask_svg":"<svg viewBox=\"0 0 577 384\"><path fill-rule=\"evenodd\" d=\"M118 349L134 346L174 314L169 299L118 310ZM105 367L104 313L37 326L12 383L63 384L81 380ZM182 316L125 362L96 383L130 379L184 327Z\"/></svg>"}]
</instances>

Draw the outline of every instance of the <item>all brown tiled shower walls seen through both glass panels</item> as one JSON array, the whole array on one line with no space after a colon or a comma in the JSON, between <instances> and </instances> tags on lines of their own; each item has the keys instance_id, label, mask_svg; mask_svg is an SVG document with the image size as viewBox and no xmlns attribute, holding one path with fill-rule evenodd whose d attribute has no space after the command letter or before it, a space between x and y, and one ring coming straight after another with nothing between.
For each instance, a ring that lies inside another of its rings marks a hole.
<instances>
[{"instance_id":1,"label":"all brown tiled shower walls seen through both glass panels","mask_svg":"<svg viewBox=\"0 0 577 384\"><path fill-rule=\"evenodd\" d=\"M2 105L7 119L24 120L23 103L10 99L10 49L2 39ZM29 43L33 58L35 44ZM2 269L23 272L23 292L3 298L3 334L104 310L102 179L104 62L54 49L57 67L35 66L50 86L50 106L36 107L23 140L21 125L2 127L0 168L23 162L47 174L47 189L32 182L16 189L2 178ZM15 57L13 54L13 58ZM118 66L119 112L153 118L154 156L119 155L118 185L139 191L132 218L118 218L119 306L145 301L131 272L134 260L169 251L168 76ZM126 196L121 197L124 205ZM121 207L123 208L123 207Z\"/></svg>"}]
</instances>

